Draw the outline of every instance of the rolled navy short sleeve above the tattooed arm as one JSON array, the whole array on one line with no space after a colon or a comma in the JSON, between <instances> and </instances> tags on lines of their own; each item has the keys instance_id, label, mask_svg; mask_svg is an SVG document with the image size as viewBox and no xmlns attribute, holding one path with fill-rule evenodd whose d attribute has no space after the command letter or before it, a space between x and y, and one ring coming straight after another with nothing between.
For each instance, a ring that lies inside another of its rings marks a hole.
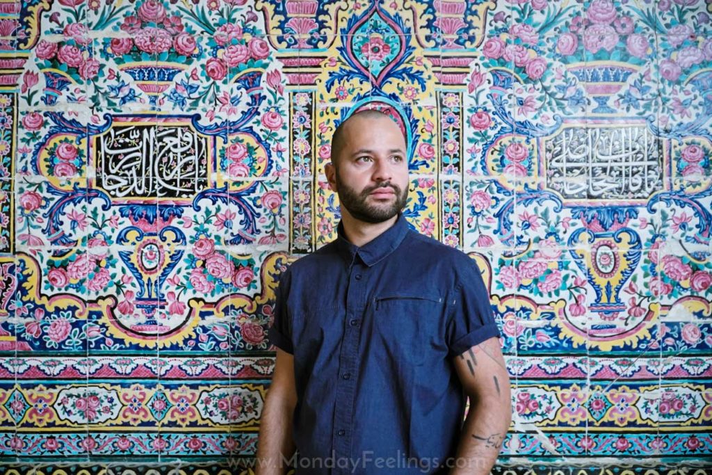
<instances>
[{"instance_id":1,"label":"rolled navy short sleeve above the tattooed arm","mask_svg":"<svg viewBox=\"0 0 712 475\"><path fill-rule=\"evenodd\" d=\"M458 267L458 282L448 302L446 340L451 357L499 336L489 293L476 263L466 258Z\"/></svg>"}]
</instances>

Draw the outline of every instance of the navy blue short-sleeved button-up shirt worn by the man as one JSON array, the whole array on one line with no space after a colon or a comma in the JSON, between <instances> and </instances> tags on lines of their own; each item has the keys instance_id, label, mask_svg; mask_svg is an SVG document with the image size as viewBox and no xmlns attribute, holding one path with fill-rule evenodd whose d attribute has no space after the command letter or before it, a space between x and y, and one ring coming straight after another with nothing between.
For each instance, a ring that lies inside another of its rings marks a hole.
<instances>
[{"instance_id":1,"label":"navy blue short-sleeved button-up shirt worn by the man","mask_svg":"<svg viewBox=\"0 0 712 475\"><path fill-rule=\"evenodd\" d=\"M466 254L402 215L361 247L340 224L283 273L269 333L294 355L297 473L435 473L464 417L452 360L498 335Z\"/></svg>"}]
</instances>

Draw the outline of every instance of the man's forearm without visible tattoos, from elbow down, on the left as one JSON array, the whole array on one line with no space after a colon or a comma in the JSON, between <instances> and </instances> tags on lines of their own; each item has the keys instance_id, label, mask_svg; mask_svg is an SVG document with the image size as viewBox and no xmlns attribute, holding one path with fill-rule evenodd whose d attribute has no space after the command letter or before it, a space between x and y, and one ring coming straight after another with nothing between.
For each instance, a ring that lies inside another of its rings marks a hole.
<instances>
[{"instance_id":1,"label":"man's forearm without visible tattoos, from elbow down, on the left","mask_svg":"<svg viewBox=\"0 0 712 475\"><path fill-rule=\"evenodd\" d=\"M285 474L294 454L292 418L294 407L268 393L262 410L257 447L256 475Z\"/></svg>"}]
</instances>

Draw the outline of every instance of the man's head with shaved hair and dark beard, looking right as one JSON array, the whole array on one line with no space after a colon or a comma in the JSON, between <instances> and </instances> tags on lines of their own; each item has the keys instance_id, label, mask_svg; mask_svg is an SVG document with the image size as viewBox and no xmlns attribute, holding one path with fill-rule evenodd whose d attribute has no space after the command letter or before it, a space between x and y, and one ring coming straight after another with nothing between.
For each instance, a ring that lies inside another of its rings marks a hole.
<instances>
[{"instance_id":1,"label":"man's head with shaved hair and dark beard, looking right","mask_svg":"<svg viewBox=\"0 0 712 475\"><path fill-rule=\"evenodd\" d=\"M342 122L334 132L331 164L325 170L342 214L367 223L396 216L408 197L406 154L400 127L384 113L364 110Z\"/></svg>"}]
</instances>

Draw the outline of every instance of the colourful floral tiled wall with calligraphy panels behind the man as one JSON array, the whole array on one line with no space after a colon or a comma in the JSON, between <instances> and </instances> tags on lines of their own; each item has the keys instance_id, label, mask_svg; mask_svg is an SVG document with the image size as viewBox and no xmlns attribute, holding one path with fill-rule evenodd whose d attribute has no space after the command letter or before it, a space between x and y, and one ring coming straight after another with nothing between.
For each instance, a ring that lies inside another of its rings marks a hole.
<instances>
[{"instance_id":1,"label":"colourful floral tiled wall with calligraphy panels behind the man","mask_svg":"<svg viewBox=\"0 0 712 475\"><path fill-rule=\"evenodd\" d=\"M334 238L329 139L365 107L412 144L412 226L490 288L498 471L709 461L711 15L0 0L0 466L248 464L276 278Z\"/></svg>"}]
</instances>

